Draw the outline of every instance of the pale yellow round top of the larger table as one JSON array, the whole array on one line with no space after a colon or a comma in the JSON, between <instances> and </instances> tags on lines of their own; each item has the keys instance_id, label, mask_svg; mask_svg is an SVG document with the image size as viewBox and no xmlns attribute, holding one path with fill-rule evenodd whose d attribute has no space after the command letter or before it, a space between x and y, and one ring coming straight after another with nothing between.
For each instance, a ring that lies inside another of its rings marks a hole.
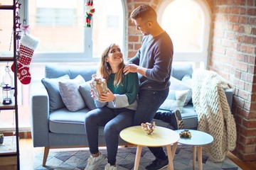
<instances>
[{"instance_id":1,"label":"pale yellow round top of the larger table","mask_svg":"<svg viewBox=\"0 0 256 170\"><path fill-rule=\"evenodd\" d=\"M125 128L120 132L120 137L134 145L146 147L161 147L171 145L179 140L179 135L174 130L156 126L152 135L146 135L141 126Z\"/></svg>"}]
</instances>

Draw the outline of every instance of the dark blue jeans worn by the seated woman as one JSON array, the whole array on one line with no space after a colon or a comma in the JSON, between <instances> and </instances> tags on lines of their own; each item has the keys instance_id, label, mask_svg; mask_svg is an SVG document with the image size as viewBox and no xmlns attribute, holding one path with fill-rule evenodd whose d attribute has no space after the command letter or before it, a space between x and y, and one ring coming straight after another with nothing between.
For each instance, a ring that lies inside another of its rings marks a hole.
<instances>
[{"instance_id":1,"label":"dark blue jeans worn by the seated woman","mask_svg":"<svg viewBox=\"0 0 256 170\"><path fill-rule=\"evenodd\" d=\"M85 130L91 154L97 154L99 127L104 128L107 146L107 161L115 164L119 142L119 132L132 126L135 111L127 108L96 108L86 114Z\"/></svg>"}]
</instances>

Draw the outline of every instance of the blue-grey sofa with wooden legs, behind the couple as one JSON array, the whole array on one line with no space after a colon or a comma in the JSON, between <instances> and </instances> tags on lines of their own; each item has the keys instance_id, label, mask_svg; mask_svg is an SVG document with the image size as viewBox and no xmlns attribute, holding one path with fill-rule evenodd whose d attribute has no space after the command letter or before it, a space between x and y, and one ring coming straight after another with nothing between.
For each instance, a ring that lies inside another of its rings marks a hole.
<instances>
[{"instance_id":1,"label":"blue-grey sofa with wooden legs, behind the couple","mask_svg":"<svg viewBox=\"0 0 256 170\"><path fill-rule=\"evenodd\" d=\"M81 75L85 81L91 79L91 75L95 74L97 67L75 67L66 65L46 65L46 78L55 79L68 74L70 79L75 79ZM189 87L193 69L191 65L174 65L171 75L172 79L182 82L186 77L186 82ZM175 85L173 83L173 85ZM41 79L32 79L30 89L31 98L31 133L33 139L33 147L45 147L43 166L46 165L49 149L63 147L87 147L87 136L85 132L85 114L90 109L85 106L78 111L68 111L66 107L60 107L53 111L50 107L49 94L46 87L42 84ZM177 86L176 86L177 87ZM177 90L181 86L178 84ZM171 90L176 90L175 86L171 86ZM191 90L191 89L190 89ZM230 107L232 105L233 91L225 91ZM54 94L50 94L54 96ZM190 94L191 96L191 94ZM51 102L58 102L57 100ZM58 104L58 103L57 103ZM196 129L198 125L197 114L193 109L191 99L188 104L183 107L182 114L183 122L186 129ZM154 120L156 125L169 127L169 123L162 120ZM103 136L103 128L99 132L100 146L105 146ZM128 145L121 138L119 145Z\"/></svg>"}]
</instances>

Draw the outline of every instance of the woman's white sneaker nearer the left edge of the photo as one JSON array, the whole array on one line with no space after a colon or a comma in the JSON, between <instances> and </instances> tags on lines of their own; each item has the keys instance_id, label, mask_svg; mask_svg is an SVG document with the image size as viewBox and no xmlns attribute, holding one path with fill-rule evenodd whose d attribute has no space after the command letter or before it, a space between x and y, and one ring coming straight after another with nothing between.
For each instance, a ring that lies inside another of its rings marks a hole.
<instances>
[{"instance_id":1,"label":"woman's white sneaker nearer the left edge of the photo","mask_svg":"<svg viewBox=\"0 0 256 170\"><path fill-rule=\"evenodd\" d=\"M106 156L104 154L101 154L99 152L99 157L90 157L87 159L87 166L85 167L85 170L97 170L99 169L100 164L104 162L106 159Z\"/></svg>"}]
</instances>

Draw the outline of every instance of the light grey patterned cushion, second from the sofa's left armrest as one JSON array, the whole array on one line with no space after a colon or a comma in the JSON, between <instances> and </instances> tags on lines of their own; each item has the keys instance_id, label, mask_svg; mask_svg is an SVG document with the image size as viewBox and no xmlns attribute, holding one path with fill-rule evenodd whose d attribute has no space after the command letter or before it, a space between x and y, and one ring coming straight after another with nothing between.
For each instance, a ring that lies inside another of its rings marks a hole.
<instances>
[{"instance_id":1,"label":"light grey patterned cushion, second from the sofa's left armrest","mask_svg":"<svg viewBox=\"0 0 256 170\"><path fill-rule=\"evenodd\" d=\"M85 79L80 75L75 79L66 79L58 83L60 96L68 111L78 111L85 108L85 101L78 90L79 85L82 83L85 83Z\"/></svg>"}]
</instances>

